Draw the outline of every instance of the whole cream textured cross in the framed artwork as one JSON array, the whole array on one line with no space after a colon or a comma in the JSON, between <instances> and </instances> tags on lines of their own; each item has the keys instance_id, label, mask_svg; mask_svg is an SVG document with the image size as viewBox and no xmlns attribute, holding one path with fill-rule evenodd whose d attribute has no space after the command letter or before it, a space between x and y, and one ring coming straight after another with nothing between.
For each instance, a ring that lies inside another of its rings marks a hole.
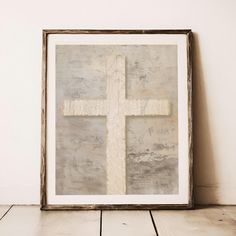
<instances>
[{"instance_id":1,"label":"whole cream textured cross in the framed artwork","mask_svg":"<svg viewBox=\"0 0 236 236\"><path fill-rule=\"evenodd\" d=\"M107 194L126 193L126 116L169 115L168 100L126 99L125 57L112 55L106 62L107 99L65 100L64 116L107 117Z\"/></svg>"}]
</instances>

